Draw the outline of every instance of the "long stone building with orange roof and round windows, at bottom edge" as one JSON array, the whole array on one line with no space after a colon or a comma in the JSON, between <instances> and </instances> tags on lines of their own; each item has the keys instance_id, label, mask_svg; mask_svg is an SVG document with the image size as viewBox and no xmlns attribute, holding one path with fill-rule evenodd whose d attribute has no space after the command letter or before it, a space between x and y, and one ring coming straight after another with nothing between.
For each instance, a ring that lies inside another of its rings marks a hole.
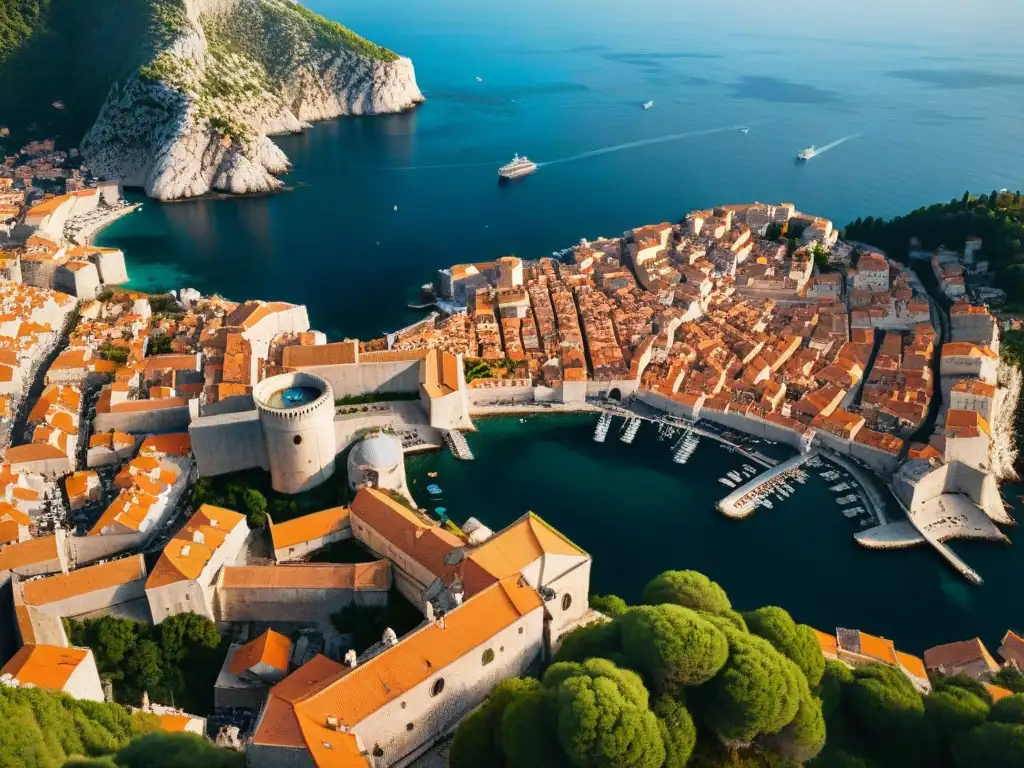
<instances>
[{"instance_id":1,"label":"long stone building with orange roof and round windows, at bottom edge","mask_svg":"<svg viewBox=\"0 0 1024 768\"><path fill-rule=\"evenodd\" d=\"M316 656L275 685L247 745L251 768L407 766L544 649L544 601L497 582L364 664Z\"/></svg>"}]
</instances>

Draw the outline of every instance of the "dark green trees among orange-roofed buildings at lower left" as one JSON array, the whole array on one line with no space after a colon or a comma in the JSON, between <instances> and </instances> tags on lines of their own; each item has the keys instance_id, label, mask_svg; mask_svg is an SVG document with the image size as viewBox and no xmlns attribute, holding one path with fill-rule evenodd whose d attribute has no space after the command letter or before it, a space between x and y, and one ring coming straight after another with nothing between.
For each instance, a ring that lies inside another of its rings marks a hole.
<instances>
[{"instance_id":1,"label":"dark green trees among orange-roofed buildings at lower left","mask_svg":"<svg viewBox=\"0 0 1024 768\"><path fill-rule=\"evenodd\" d=\"M113 683L118 701L137 706L147 691L154 701L196 715L210 711L226 652L210 620L179 613L158 627L114 616L65 621L72 644L92 648L99 676Z\"/></svg>"}]
</instances>

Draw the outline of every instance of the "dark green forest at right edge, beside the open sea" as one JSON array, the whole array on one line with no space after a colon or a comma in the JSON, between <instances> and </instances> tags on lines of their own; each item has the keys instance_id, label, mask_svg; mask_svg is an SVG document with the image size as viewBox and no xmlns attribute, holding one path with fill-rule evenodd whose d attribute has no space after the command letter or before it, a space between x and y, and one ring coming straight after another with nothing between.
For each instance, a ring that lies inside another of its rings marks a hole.
<instances>
[{"instance_id":1,"label":"dark green forest at right edge, beside the open sea","mask_svg":"<svg viewBox=\"0 0 1024 768\"><path fill-rule=\"evenodd\" d=\"M962 249L971 236L982 239L980 258L987 260L996 274L995 285L1005 290L1011 304L1024 302L1024 222L1019 210L1019 194L994 190L972 198L919 208L894 219L857 219L844 229L846 240L866 243L896 259L906 259L910 238L933 250L945 245ZM1015 204L1014 201L1018 202Z\"/></svg>"}]
</instances>

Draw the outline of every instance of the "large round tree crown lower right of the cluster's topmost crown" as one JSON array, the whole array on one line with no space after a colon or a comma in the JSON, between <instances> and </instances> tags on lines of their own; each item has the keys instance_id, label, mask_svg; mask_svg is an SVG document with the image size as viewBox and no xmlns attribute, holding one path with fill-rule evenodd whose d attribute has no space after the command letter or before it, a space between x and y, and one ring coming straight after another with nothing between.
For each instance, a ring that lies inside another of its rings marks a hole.
<instances>
[{"instance_id":1,"label":"large round tree crown lower right of the cluster's topmost crown","mask_svg":"<svg viewBox=\"0 0 1024 768\"><path fill-rule=\"evenodd\" d=\"M781 730L808 691L803 673L764 638L738 632L728 638L729 660L696 691L701 719L730 740Z\"/></svg>"}]
</instances>

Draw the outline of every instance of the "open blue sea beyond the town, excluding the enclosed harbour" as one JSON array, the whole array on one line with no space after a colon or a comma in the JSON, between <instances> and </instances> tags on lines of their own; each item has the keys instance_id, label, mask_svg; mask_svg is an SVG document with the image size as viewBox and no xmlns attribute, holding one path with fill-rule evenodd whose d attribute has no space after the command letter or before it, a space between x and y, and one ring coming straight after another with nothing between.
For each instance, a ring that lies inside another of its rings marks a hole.
<instances>
[{"instance_id":1,"label":"open blue sea beyond the town, excluding the enclosed harbour","mask_svg":"<svg viewBox=\"0 0 1024 768\"><path fill-rule=\"evenodd\" d=\"M125 249L134 285L303 302L328 333L368 338L421 316L407 304L454 262L722 202L842 224L1024 178L1018 3L308 4L411 56L427 102L280 137L289 191L118 222L100 242ZM516 152L542 168L500 186Z\"/></svg>"}]
</instances>

